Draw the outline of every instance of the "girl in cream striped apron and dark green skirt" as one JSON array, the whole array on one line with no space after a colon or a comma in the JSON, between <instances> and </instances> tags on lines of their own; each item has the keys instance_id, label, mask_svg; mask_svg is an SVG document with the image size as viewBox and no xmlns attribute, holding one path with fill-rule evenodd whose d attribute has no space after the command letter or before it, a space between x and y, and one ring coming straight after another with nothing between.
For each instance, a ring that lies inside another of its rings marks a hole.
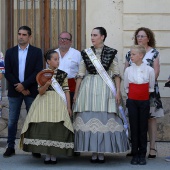
<instances>
[{"instance_id":1,"label":"girl in cream striped apron and dark green skirt","mask_svg":"<svg viewBox=\"0 0 170 170\"><path fill-rule=\"evenodd\" d=\"M49 65L48 70L54 71L53 77L65 92L67 104L51 86L51 80L40 86L39 95L32 103L25 120L20 146L26 152L46 154L45 164L56 164L56 156L72 156L73 153L74 131L70 119L72 111L67 73L57 69L58 53L49 51L45 59Z\"/></svg>"}]
</instances>

